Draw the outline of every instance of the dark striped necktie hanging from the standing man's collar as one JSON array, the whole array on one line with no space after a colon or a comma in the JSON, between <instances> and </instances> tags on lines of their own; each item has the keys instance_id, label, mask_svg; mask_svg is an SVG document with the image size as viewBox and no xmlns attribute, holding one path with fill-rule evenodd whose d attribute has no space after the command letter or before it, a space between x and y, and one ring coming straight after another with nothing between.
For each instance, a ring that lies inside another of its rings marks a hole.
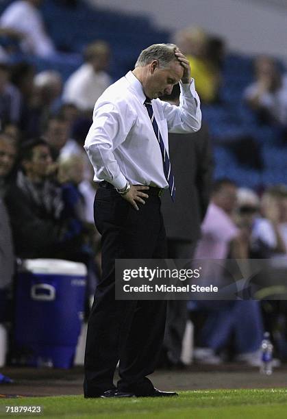
<instances>
[{"instance_id":1,"label":"dark striped necktie hanging from the standing man's collar","mask_svg":"<svg viewBox=\"0 0 287 419\"><path fill-rule=\"evenodd\" d=\"M171 162L169 161L169 155L166 151L166 148L164 147L162 135L160 134L160 129L158 128L158 123L156 122L153 114L153 105L151 105L151 99L145 99L144 104L147 108L149 118L151 118L153 131L155 131L155 137L158 140L158 144L160 144L160 151L162 152L162 162L164 166L164 176L166 177L166 180L169 183L169 192L171 192L171 199L175 201L175 177L173 176L173 172L171 170Z\"/></svg>"}]
</instances>

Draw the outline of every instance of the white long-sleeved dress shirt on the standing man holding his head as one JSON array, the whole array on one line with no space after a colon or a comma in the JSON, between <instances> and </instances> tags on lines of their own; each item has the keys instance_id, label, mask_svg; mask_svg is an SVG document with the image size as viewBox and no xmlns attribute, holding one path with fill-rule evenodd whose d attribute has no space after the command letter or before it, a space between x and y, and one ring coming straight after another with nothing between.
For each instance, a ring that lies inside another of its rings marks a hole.
<instances>
[{"instance_id":1,"label":"white long-sleeved dress shirt on the standing man holding his head","mask_svg":"<svg viewBox=\"0 0 287 419\"><path fill-rule=\"evenodd\" d=\"M153 112L166 151L168 131L187 133L201 127L200 101L195 82L180 83L180 104L153 99ZM162 154L153 131L142 84L129 71L98 99L84 148L95 170L95 181L124 188L133 185L168 188ZM196 100L195 100L196 99ZM175 179L176 180L176 179Z\"/></svg>"}]
</instances>

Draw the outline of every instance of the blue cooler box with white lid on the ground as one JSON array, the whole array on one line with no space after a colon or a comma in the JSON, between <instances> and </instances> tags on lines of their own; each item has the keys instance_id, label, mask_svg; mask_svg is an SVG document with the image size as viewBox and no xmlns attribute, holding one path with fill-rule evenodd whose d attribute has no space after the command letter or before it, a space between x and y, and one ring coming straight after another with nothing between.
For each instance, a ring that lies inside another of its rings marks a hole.
<instances>
[{"instance_id":1,"label":"blue cooler box with white lid on the ground","mask_svg":"<svg viewBox=\"0 0 287 419\"><path fill-rule=\"evenodd\" d=\"M86 266L27 259L16 281L15 343L21 363L70 368L82 325Z\"/></svg>"}]
</instances>

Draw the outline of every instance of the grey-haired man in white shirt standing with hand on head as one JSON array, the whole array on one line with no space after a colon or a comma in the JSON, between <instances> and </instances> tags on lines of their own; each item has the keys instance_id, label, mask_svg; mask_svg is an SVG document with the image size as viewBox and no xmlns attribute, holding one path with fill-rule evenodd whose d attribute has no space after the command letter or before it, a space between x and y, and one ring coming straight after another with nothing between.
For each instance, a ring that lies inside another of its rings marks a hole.
<instances>
[{"instance_id":1,"label":"grey-haired man in white shirt standing with hand on head","mask_svg":"<svg viewBox=\"0 0 287 419\"><path fill-rule=\"evenodd\" d=\"M158 99L179 82L179 106ZM164 337L166 301L115 300L115 259L166 257L160 194L171 192L166 171L168 131L201 127L190 66L176 45L151 45L98 99L85 149L99 182L95 223L102 235L102 277L88 321L85 397L176 396L157 390L155 369ZM114 386L119 364L121 379Z\"/></svg>"}]
</instances>

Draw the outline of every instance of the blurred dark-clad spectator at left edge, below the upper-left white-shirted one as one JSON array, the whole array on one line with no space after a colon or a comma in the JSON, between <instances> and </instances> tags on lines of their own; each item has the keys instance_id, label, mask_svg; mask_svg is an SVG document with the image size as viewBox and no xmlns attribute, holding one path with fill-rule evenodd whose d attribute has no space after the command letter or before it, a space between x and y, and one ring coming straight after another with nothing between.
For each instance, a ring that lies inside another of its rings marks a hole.
<instances>
[{"instance_id":1,"label":"blurred dark-clad spectator at left edge, below the upper-left white-shirted one","mask_svg":"<svg viewBox=\"0 0 287 419\"><path fill-rule=\"evenodd\" d=\"M10 68L0 63L0 125L17 123L20 119L21 95L10 81Z\"/></svg>"}]
</instances>

